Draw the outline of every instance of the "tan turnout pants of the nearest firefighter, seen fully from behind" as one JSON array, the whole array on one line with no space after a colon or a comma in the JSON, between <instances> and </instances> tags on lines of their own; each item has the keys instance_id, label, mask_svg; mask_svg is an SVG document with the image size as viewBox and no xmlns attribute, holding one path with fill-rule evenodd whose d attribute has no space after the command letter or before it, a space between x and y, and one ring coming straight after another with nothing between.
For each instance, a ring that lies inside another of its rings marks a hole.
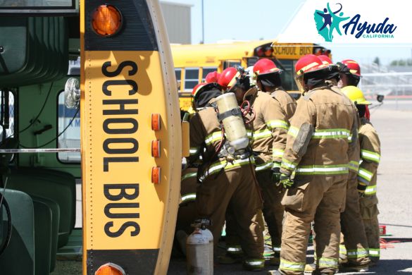
<instances>
[{"instance_id":1,"label":"tan turnout pants of the nearest firefighter, seen fully from behind","mask_svg":"<svg viewBox=\"0 0 412 275\"><path fill-rule=\"evenodd\" d=\"M340 210L347 191L348 175L316 175L310 181L296 177L282 199L285 221L280 250L284 274L304 274L306 249L315 221L316 272L333 274L339 259Z\"/></svg>"}]
</instances>

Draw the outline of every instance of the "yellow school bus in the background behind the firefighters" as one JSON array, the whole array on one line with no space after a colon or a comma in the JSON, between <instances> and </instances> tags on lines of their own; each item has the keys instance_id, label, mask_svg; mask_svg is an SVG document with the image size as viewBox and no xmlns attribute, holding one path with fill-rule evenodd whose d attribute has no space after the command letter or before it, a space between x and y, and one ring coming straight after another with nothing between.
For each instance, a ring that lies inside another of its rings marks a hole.
<instances>
[{"instance_id":1,"label":"yellow school bus in the background behind the firefighters","mask_svg":"<svg viewBox=\"0 0 412 275\"><path fill-rule=\"evenodd\" d=\"M283 70L281 78L285 90L297 93L294 64L305 54L325 54L330 50L317 44L278 44L273 40L222 42L216 44L172 44L175 75L179 87L180 108L191 104L190 93L196 84L213 71L221 73L231 66L247 68L258 59L272 59Z\"/></svg>"}]
</instances>

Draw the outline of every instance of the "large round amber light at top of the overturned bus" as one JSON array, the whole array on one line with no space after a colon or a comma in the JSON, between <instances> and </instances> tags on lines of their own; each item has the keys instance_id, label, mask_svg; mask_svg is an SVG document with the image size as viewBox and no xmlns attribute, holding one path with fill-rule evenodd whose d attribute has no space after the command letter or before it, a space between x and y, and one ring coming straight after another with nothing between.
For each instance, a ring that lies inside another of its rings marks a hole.
<instances>
[{"instance_id":1,"label":"large round amber light at top of the overturned bus","mask_svg":"<svg viewBox=\"0 0 412 275\"><path fill-rule=\"evenodd\" d=\"M116 35L122 25L122 14L114 6L101 5L92 14L92 28L98 35L106 37Z\"/></svg>"}]
</instances>

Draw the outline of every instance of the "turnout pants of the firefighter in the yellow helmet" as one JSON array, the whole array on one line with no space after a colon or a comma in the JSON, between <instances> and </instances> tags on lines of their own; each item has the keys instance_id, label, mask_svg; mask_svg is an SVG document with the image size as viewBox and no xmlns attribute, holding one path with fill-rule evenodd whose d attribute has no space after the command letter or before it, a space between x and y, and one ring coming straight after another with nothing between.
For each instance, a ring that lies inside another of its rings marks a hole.
<instances>
[{"instance_id":1,"label":"turnout pants of the firefighter in the yellow helmet","mask_svg":"<svg viewBox=\"0 0 412 275\"><path fill-rule=\"evenodd\" d=\"M359 199L363 226L365 226L366 238L368 239L369 257L373 264L380 259L380 230L377 215L377 197L376 195L366 195Z\"/></svg>"}]
</instances>

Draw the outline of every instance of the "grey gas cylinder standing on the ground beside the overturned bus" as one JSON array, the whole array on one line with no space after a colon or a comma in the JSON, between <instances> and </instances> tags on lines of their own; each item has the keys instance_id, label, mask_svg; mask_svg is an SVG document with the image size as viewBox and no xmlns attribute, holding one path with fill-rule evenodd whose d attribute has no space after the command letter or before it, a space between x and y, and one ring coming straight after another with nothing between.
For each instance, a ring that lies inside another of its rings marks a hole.
<instances>
[{"instance_id":1,"label":"grey gas cylinder standing on the ground beside the overturned bus","mask_svg":"<svg viewBox=\"0 0 412 275\"><path fill-rule=\"evenodd\" d=\"M196 222L186 240L187 274L213 274L213 235L204 224Z\"/></svg>"}]
</instances>

